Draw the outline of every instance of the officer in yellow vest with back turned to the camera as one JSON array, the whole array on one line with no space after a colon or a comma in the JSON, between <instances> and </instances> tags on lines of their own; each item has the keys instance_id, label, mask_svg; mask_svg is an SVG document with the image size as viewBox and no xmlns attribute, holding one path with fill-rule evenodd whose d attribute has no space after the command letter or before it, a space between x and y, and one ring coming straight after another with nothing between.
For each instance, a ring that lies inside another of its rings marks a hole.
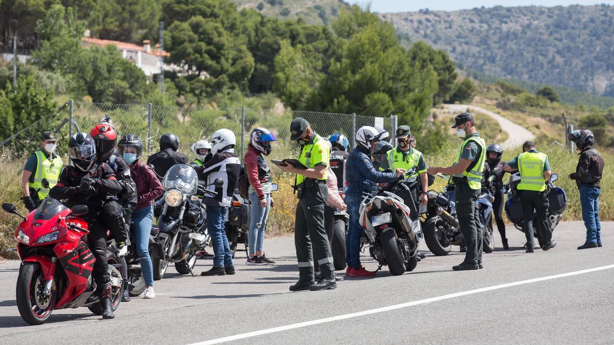
<instances>
[{"instance_id":1,"label":"officer in yellow vest with back turned to the camera","mask_svg":"<svg viewBox=\"0 0 614 345\"><path fill-rule=\"evenodd\" d=\"M532 253L535 247L533 239L534 212L537 214L537 236L542 240L542 249L548 250L556 246L552 240L552 231L548 225L548 187L546 181L550 180L550 163L545 153L537 152L535 143L526 141L523 144L523 153L505 165L505 171L518 170L520 183L518 192L523 203L524 235L527 237L527 253Z\"/></svg>"}]
</instances>

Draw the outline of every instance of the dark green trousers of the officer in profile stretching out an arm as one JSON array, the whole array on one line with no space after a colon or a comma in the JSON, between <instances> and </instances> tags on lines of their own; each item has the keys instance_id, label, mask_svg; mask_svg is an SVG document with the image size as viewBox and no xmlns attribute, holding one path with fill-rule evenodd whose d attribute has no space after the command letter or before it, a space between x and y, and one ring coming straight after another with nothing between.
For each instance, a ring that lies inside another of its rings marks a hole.
<instances>
[{"instance_id":1,"label":"dark green trousers of the officer in profile stretching out an arm","mask_svg":"<svg viewBox=\"0 0 614 345\"><path fill-rule=\"evenodd\" d=\"M482 262L482 249L484 234L480 225L480 214L478 214L478 196L480 190L469 187L467 182L457 182L454 189L456 198L456 214L459 217L461 233L465 238L467 254L464 263L476 264Z\"/></svg>"}]
</instances>

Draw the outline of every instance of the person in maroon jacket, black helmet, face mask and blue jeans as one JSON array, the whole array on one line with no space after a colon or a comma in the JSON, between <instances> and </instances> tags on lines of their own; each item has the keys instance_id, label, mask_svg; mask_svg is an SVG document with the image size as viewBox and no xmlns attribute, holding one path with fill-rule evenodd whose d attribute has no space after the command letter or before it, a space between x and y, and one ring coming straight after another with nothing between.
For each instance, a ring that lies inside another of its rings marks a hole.
<instances>
[{"instance_id":1,"label":"person in maroon jacket, black helmet, face mask and blue jeans","mask_svg":"<svg viewBox=\"0 0 614 345\"><path fill-rule=\"evenodd\" d=\"M164 193L164 188L152 169L139 161L143 153L143 144L136 135L126 134L119 141L118 146L123 159L130 165L130 172L138 195L130 230L136 242L136 255L141 263L143 279L147 285L144 298L155 298L152 260L149 257L149 234L153 223L153 201Z\"/></svg>"}]
</instances>

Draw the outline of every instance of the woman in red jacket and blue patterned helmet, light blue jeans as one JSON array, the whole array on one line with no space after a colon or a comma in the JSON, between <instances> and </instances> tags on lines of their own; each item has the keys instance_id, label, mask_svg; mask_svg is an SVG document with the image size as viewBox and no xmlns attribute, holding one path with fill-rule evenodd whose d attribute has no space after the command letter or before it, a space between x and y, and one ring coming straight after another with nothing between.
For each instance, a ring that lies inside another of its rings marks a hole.
<instances>
[{"instance_id":1,"label":"woman in red jacket and blue patterned helmet, light blue jeans","mask_svg":"<svg viewBox=\"0 0 614 345\"><path fill-rule=\"evenodd\" d=\"M271 196L271 168L262 155L271 153L274 134L266 128L255 128L249 138L249 146L243 163L249 178L249 200L252 203L252 219L247 233L249 255L247 265L262 266L275 263L265 256L264 241L268 212L273 206Z\"/></svg>"}]
</instances>

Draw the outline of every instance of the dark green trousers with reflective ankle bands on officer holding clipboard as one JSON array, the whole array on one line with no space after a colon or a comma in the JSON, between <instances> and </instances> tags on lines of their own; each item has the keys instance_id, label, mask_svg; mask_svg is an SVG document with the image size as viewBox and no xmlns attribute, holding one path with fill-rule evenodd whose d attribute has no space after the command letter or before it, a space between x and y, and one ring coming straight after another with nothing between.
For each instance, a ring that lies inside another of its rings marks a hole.
<instances>
[{"instance_id":1,"label":"dark green trousers with reflective ankle bands on officer holding clipboard","mask_svg":"<svg viewBox=\"0 0 614 345\"><path fill-rule=\"evenodd\" d=\"M297 204L294 220L294 245L297 249L298 273L301 281L314 279L314 257L321 276L331 279L335 272L330 242L324 228L324 205L328 197L325 181L303 184L303 195ZM313 246L313 251L312 251Z\"/></svg>"}]
</instances>

